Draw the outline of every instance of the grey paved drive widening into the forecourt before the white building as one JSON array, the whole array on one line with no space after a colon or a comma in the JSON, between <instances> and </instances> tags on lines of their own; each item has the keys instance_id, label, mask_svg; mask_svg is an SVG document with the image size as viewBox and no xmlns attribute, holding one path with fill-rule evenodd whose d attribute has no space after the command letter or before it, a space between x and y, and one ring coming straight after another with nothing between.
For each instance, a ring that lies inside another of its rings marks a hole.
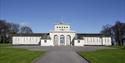
<instances>
[{"instance_id":1,"label":"grey paved drive widening into the forecourt before the white building","mask_svg":"<svg viewBox=\"0 0 125 63\"><path fill-rule=\"evenodd\" d=\"M89 63L80 57L78 51L93 51L97 49L107 49L104 46L60 46L60 47L41 47L41 46L14 46L16 48L26 48L29 50L48 51L46 55L39 58L35 63Z\"/></svg>"}]
</instances>

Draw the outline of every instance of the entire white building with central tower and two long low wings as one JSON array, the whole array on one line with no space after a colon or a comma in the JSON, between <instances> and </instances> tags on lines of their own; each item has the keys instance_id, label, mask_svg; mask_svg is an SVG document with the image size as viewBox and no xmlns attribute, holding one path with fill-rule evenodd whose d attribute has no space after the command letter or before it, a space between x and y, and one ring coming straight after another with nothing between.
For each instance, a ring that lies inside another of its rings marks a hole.
<instances>
[{"instance_id":1,"label":"entire white building with central tower and two long low wings","mask_svg":"<svg viewBox=\"0 0 125 63\"><path fill-rule=\"evenodd\" d=\"M12 37L14 45L41 45L41 46L84 46L84 45L111 45L111 37L99 33L76 33L70 25L59 23L49 33L16 34Z\"/></svg>"}]
</instances>

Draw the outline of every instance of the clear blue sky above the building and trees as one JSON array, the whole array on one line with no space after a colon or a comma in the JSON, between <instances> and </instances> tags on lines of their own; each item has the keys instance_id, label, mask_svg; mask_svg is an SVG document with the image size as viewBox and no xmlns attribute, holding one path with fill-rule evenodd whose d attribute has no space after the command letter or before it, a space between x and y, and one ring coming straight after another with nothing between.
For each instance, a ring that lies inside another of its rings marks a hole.
<instances>
[{"instance_id":1,"label":"clear blue sky above the building and trees","mask_svg":"<svg viewBox=\"0 0 125 63\"><path fill-rule=\"evenodd\" d=\"M35 33L49 32L62 18L76 32L98 33L125 22L125 0L0 0L0 19L28 24Z\"/></svg>"}]
</instances>

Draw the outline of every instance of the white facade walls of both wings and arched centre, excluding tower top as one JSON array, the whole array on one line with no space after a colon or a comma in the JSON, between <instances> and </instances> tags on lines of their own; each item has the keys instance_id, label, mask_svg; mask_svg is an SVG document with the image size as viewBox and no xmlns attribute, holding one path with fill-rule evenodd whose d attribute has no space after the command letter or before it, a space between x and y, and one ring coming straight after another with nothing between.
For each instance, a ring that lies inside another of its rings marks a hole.
<instances>
[{"instance_id":1,"label":"white facade walls of both wings and arched centre, excluding tower top","mask_svg":"<svg viewBox=\"0 0 125 63\"><path fill-rule=\"evenodd\" d=\"M41 46L54 46L54 35L58 36L60 39L61 35L65 36L65 45L70 44L66 43L66 36L71 36L71 41L74 42L74 46L84 46L84 45L111 45L111 37L84 37L83 40L74 40L75 33L50 33L51 39L41 39L41 37L34 37L34 36L13 36L12 37L12 44L39 44L41 41ZM60 40L58 40L58 45L60 45Z\"/></svg>"}]
</instances>

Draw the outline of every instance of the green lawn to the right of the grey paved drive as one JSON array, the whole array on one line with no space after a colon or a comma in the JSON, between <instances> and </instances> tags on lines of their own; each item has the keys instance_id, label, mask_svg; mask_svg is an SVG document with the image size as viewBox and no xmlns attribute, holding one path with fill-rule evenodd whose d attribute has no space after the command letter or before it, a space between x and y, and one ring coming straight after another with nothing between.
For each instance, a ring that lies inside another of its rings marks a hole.
<instances>
[{"instance_id":1,"label":"green lawn to the right of the grey paved drive","mask_svg":"<svg viewBox=\"0 0 125 63\"><path fill-rule=\"evenodd\" d=\"M92 52L80 52L91 63L125 63L125 49L104 49Z\"/></svg>"}]
</instances>

